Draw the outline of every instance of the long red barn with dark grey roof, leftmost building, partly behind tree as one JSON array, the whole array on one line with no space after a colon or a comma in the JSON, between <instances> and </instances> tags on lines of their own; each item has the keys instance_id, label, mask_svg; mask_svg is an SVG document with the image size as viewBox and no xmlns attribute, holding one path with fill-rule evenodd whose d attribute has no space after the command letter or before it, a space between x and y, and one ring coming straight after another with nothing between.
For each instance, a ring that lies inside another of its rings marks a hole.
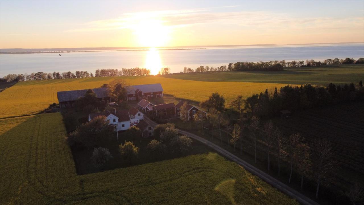
<instances>
[{"instance_id":1,"label":"long red barn with dark grey roof, leftmost building, partly behind tree","mask_svg":"<svg viewBox=\"0 0 364 205\"><path fill-rule=\"evenodd\" d=\"M110 94L108 94L106 88L94 88L92 90L95 92L95 94L101 104L107 104L107 103L111 102ZM76 105L75 102L76 102L77 98L83 97L85 95L86 91L87 91L87 89L86 90L69 90L69 91L57 92L59 107L60 108L75 107L75 105Z\"/></svg>"}]
</instances>

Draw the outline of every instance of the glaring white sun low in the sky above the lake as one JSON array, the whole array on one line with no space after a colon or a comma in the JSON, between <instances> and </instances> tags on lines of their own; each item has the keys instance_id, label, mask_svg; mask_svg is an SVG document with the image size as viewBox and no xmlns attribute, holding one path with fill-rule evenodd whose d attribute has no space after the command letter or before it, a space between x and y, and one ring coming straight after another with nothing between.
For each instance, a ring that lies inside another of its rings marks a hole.
<instances>
[{"instance_id":1,"label":"glaring white sun low in the sky above the lake","mask_svg":"<svg viewBox=\"0 0 364 205\"><path fill-rule=\"evenodd\" d=\"M134 35L141 47L162 47L169 41L170 30L162 20L141 19L133 25Z\"/></svg>"}]
</instances>

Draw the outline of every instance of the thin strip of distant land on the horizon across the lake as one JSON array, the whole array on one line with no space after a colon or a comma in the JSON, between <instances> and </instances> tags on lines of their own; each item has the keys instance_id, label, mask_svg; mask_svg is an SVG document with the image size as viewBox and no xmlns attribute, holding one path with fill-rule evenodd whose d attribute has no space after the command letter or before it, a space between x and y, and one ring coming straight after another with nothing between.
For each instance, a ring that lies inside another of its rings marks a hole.
<instances>
[{"instance_id":1,"label":"thin strip of distant land on the horizon across the lake","mask_svg":"<svg viewBox=\"0 0 364 205\"><path fill-rule=\"evenodd\" d=\"M249 47L249 46L304 46L304 45L335 45L335 44L360 44L364 42L340 43L301 43L301 44L251 44L251 45L210 45L210 46L175 46L156 47L157 50L196 50L211 47ZM143 51L150 47L83 47L83 48L53 48L53 49L0 49L0 54L30 54L30 53L74 53L74 52L100 52L100 51Z\"/></svg>"}]
</instances>

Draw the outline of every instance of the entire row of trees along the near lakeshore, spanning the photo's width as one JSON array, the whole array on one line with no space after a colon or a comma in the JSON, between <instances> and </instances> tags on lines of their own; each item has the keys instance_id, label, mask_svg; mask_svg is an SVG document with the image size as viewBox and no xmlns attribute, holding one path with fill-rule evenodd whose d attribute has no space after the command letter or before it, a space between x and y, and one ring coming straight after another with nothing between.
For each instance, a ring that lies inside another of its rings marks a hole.
<instances>
[{"instance_id":1,"label":"entire row of trees along the near lakeshore, spanning the photo's width","mask_svg":"<svg viewBox=\"0 0 364 205\"><path fill-rule=\"evenodd\" d=\"M281 71L285 67L309 67L309 66L321 66L321 65L339 65L339 64L363 64L364 58L359 58L357 60L353 58L345 59L326 59L324 62L306 60L306 61L267 61L267 62L236 62L229 63L220 67L209 67L209 66L199 66L195 70L191 68L184 67L181 73L198 73L207 71ZM169 68L162 68L159 74L166 75L170 74ZM0 82L19 82L19 81L29 81L29 80L51 80L51 79L68 79L68 78L88 78L88 77L115 77L115 76L150 76L150 70L146 68L131 68L131 69L100 69L96 70L95 74L88 73L88 71L76 71L72 73L68 72L37 72L31 74L8 74L4 78L0 78Z\"/></svg>"}]
</instances>

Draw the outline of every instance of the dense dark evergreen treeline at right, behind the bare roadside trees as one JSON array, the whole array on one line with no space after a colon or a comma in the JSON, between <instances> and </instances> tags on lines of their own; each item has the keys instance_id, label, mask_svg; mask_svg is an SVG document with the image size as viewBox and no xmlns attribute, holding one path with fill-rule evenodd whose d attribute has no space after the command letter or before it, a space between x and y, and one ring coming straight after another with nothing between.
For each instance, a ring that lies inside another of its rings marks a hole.
<instances>
[{"instance_id":1,"label":"dense dark evergreen treeline at right, behind the bare roadside trees","mask_svg":"<svg viewBox=\"0 0 364 205\"><path fill-rule=\"evenodd\" d=\"M312 86L310 84L298 86L286 85L274 91L266 89L264 93L253 94L246 98L244 109L255 116L273 116L280 110L297 111L306 108L327 107L338 102L352 102L364 100L363 82L345 84L344 86L329 84Z\"/></svg>"}]
</instances>

